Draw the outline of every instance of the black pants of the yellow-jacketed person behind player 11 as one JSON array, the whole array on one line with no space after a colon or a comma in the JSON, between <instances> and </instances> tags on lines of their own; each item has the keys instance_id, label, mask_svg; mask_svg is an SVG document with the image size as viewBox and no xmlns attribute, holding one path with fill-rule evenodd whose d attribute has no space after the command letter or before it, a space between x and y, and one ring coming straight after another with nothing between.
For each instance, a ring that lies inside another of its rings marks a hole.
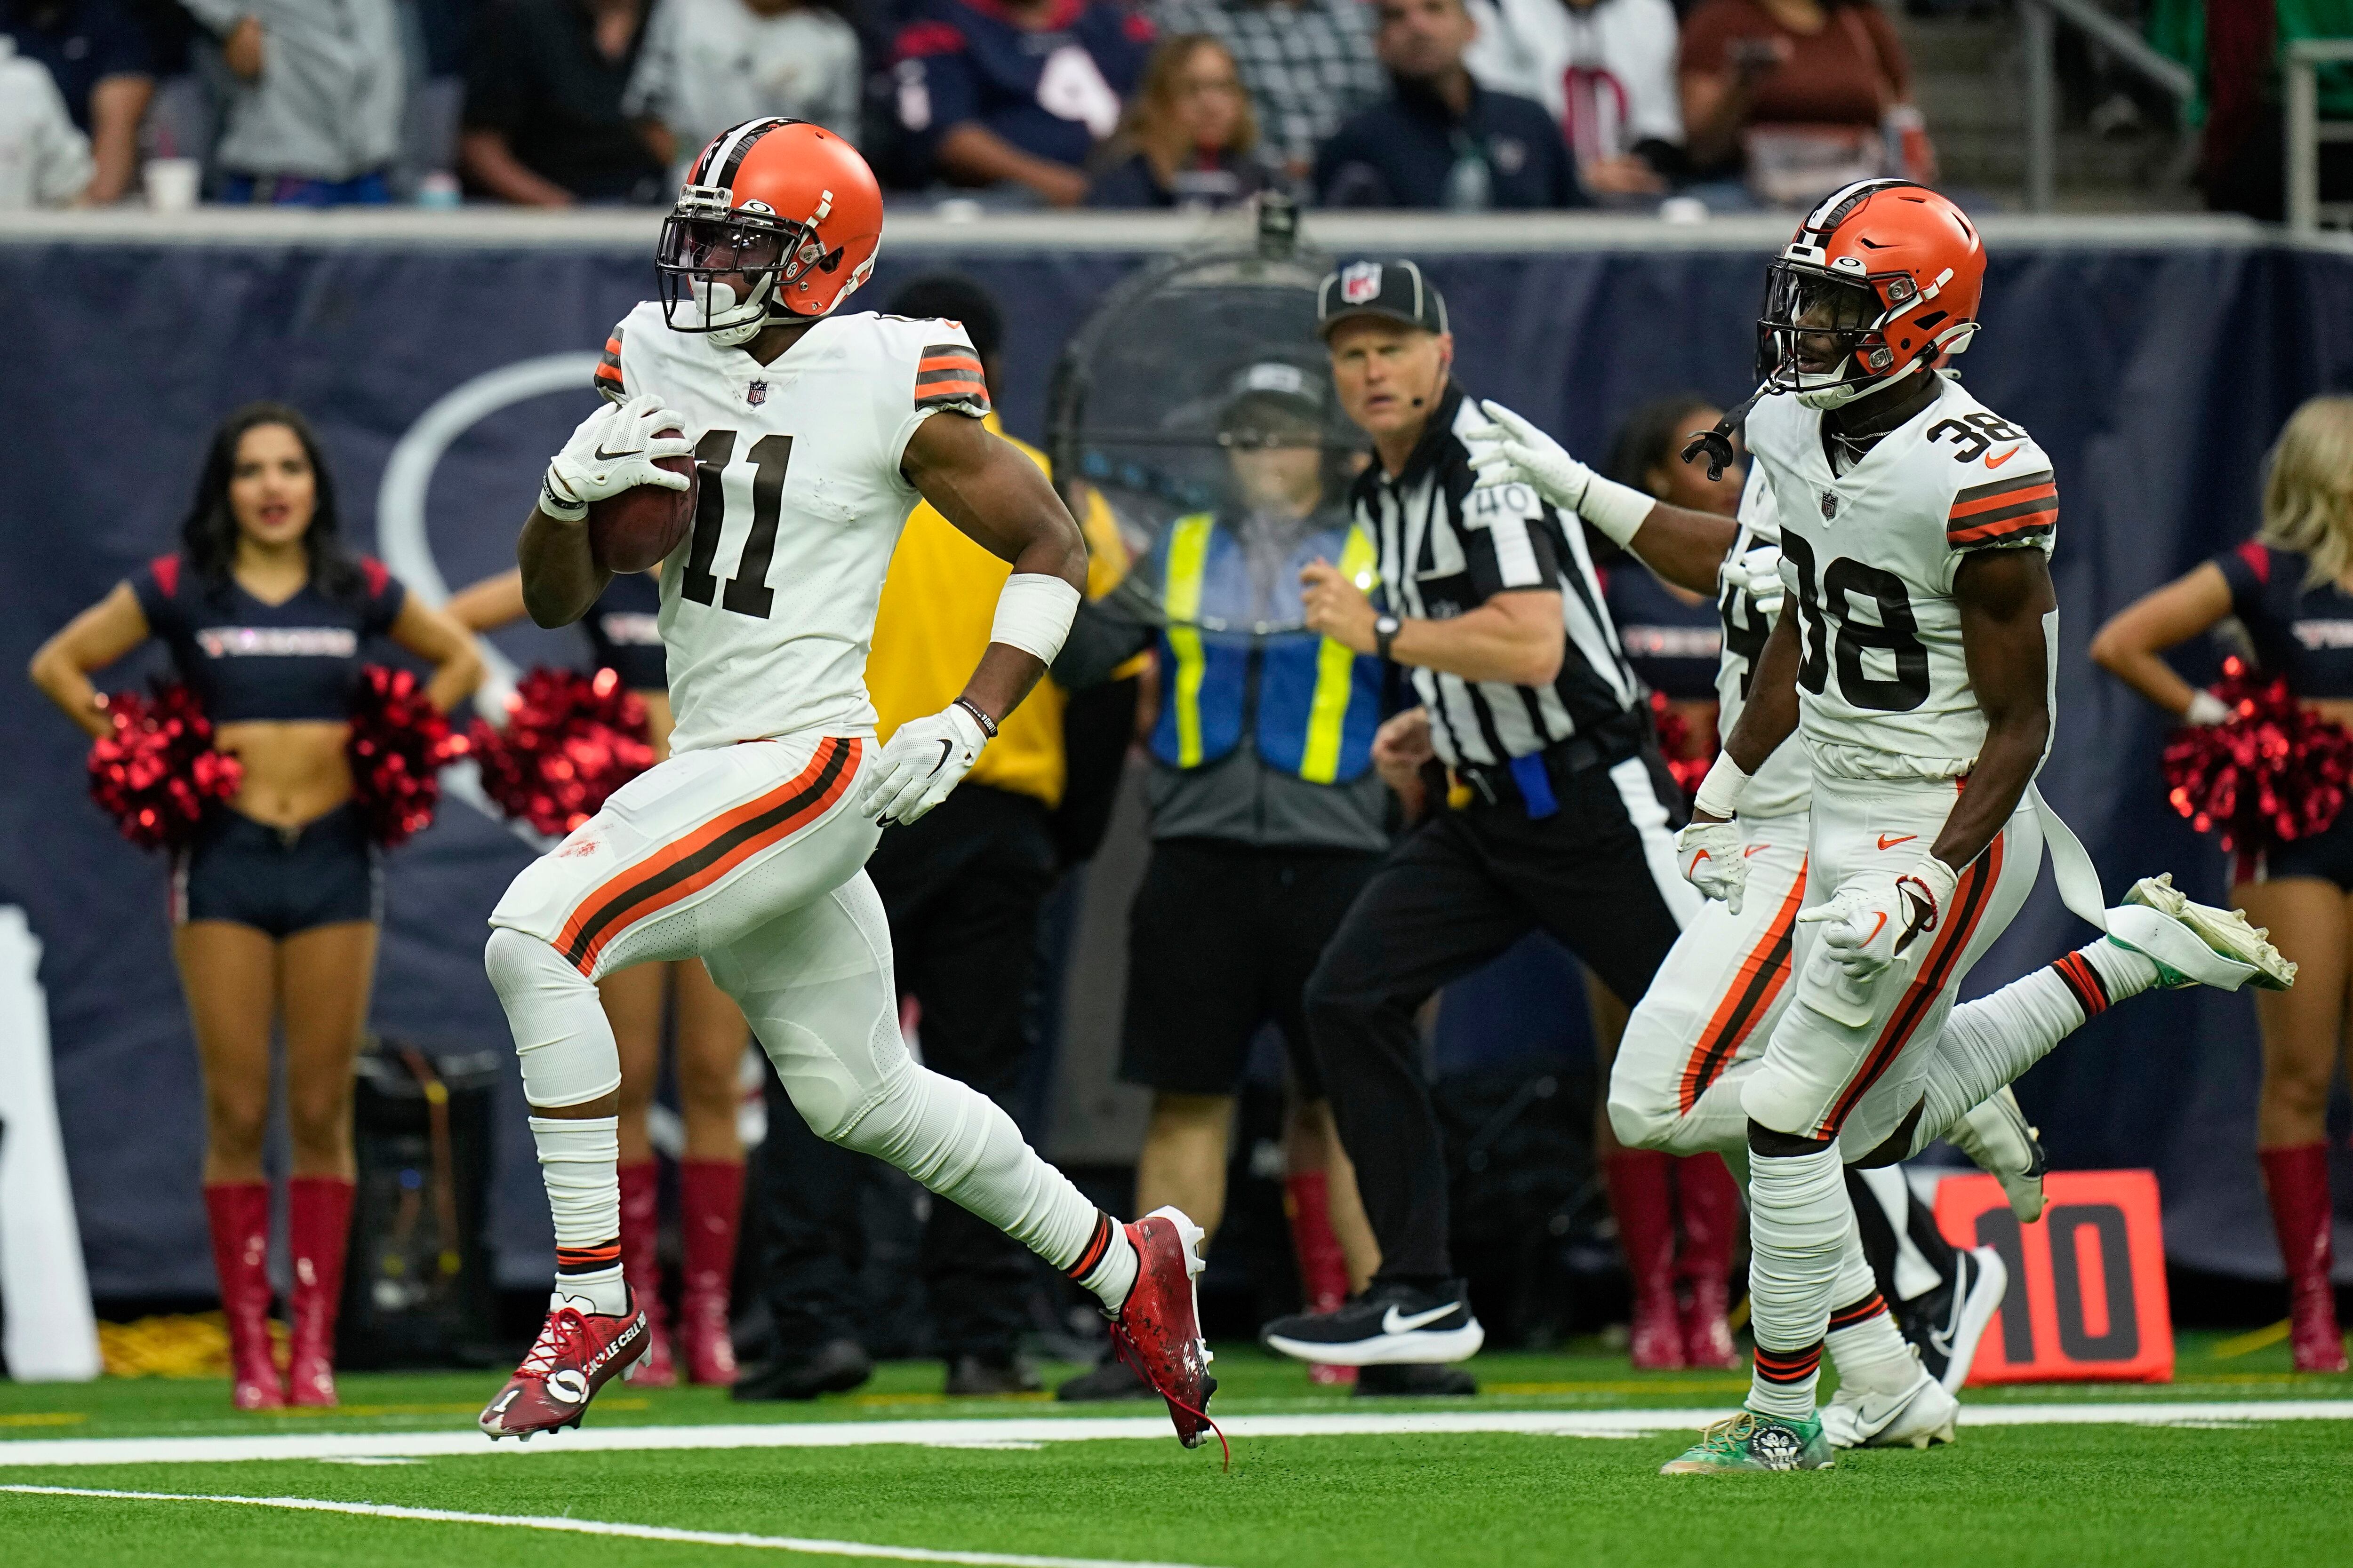
<instances>
[{"instance_id":1,"label":"black pants of the yellow-jacketed person behind player 11","mask_svg":"<svg viewBox=\"0 0 2353 1568\"><path fill-rule=\"evenodd\" d=\"M1021 997L1038 910L1054 884L1042 802L965 785L866 863L889 912L899 994L922 1006L922 1060L1007 1105L1028 1053ZM859 1338L866 1157L816 1138L772 1072L753 1161L765 1234L760 1279L784 1356ZM1026 1328L1028 1253L995 1225L934 1201L922 1281L941 1356L1002 1359Z\"/></svg>"}]
</instances>

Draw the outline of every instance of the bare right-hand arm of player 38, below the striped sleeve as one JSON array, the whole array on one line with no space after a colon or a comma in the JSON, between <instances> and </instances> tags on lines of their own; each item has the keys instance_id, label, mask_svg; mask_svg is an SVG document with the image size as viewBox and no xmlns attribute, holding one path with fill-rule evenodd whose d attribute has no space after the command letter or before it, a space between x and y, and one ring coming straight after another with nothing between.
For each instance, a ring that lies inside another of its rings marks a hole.
<instances>
[{"instance_id":1,"label":"bare right-hand arm of player 38, below the striped sleeve","mask_svg":"<svg viewBox=\"0 0 2353 1568\"><path fill-rule=\"evenodd\" d=\"M2042 550L1988 550L1960 562L1953 602L1960 604L1969 689L1986 715L1986 745L1969 788L1929 851L1958 872L2019 809L2049 748L2049 639L2059 632L2059 590Z\"/></svg>"}]
</instances>

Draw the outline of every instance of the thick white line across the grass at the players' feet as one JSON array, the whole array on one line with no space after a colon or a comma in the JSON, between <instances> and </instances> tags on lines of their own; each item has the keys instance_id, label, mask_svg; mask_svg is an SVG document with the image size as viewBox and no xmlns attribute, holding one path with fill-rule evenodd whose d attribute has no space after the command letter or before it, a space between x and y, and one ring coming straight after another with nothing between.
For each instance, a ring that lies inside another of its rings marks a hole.
<instances>
[{"instance_id":1,"label":"thick white line across the grass at the players' feet","mask_svg":"<svg viewBox=\"0 0 2353 1568\"><path fill-rule=\"evenodd\" d=\"M1725 1406L1685 1410L1346 1410L1332 1415L1235 1415L1224 1422L1235 1441L1275 1436L1449 1436L1520 1432L1527 1436L1649 1436L1697 1432ZM2353 1399L2245 1399L2146 1403L1974 1403L1967 1427L2075 1425L2238 1425L2268 1420L2353 1420ZM247 1460L431 1460L567 1453L645 1453L656 1448L868 1448L911 1443L927 1448L1014 1448L1031 1443L1089 1443L1106 1439L1169 1441L1160 1415L988 1420L845 1420L736 1422L713 1427L588 1427L553 1432L534 1443L492 1443L478 1432L285 1432L259 1436L85 1436L0 1441L0 1469L54 1465L228 1465Z\"/></svg>"}]
</instances>

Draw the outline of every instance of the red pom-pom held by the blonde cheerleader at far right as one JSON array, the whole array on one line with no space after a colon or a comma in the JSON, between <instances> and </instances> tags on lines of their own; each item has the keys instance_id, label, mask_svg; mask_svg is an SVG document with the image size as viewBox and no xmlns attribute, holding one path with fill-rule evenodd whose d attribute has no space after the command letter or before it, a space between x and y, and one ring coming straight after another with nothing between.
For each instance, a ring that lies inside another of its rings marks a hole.
<instances>
[{"instance_id":1,"label":"red pom-pom held by the blonde cheerleader at far right","mask_svg":"<svg viewBox=\"0 0 2353 1568\"><path fill-rule=\"evenodd\" d=\"M2297 703L2285 679L2226 658L2212 689L2231 719L2165 741L2165 799L2224 849L2259 851L2327 832L2353 778L2353 736Z\"/></svg>"}]
</instances>

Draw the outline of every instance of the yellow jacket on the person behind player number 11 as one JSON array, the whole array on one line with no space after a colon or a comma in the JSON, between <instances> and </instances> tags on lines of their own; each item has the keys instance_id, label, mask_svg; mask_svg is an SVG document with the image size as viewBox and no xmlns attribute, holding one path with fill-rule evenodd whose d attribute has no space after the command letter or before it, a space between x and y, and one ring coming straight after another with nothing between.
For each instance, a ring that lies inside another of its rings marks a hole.
<instances>
[{"instance_id":1,"label":"yellow jacket on the person behind player number 11","mask_svg":"<svg viewBox=\"0 0 2353 1568\"><path fill-rule=\"evenodd\" d=\"M981 423L1005 435L995 414ZM1042 451L1009 435L1005 440L1052 477L1054 470ZM1078 524L1087 534L1087 597L1099 597L1125 576L1127 552L1111 508L1092 489ZM889 576L882 581L873 654L866 658L866 691L873 696L882 741L908 719L939 712L965 689L974 665L981 663L981 651L988 649L998 592L1009 576L1012 567L965 538L929 501L906 520L899 548L889 557ZM967 780L1059 806L1066 776L1064 701L1052 679L1038 682L998 724L998 738L981 752Z\"/></svg>"}]
</instances>

